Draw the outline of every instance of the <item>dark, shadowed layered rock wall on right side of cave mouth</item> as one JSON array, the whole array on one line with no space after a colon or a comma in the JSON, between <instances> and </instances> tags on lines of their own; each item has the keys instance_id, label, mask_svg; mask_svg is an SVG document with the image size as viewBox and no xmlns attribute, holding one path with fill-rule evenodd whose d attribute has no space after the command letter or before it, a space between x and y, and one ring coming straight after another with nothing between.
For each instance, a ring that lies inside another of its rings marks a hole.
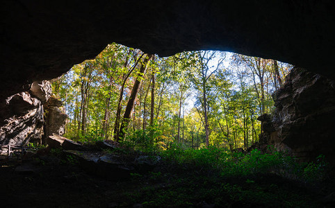
<instances>
[{"instance_id":1,"label":"dark, shadowed layered rock wall on right side of cave mouth","mask_svg":"<svg viewBox=\"0 0 335 208\"><path fill-rule=\"evenodd\" d=\"M335 164L335 81L295 67L272 97L272 121L260 118L265 140L302 162L322 154Z\"/></svg>"}]
</instances>

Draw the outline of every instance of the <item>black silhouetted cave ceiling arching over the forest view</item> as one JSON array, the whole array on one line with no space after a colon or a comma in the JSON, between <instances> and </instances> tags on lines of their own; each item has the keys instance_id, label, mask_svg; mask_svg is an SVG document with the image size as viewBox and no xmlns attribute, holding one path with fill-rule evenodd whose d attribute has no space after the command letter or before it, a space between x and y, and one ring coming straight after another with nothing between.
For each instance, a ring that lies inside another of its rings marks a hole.
<instances>
[{"instance_id":1,"label":"black silhouetted cave ceiling arching over the forest view","mask_svg":"<svg viewBox=\"0 0 335 208\"><path fill-rule=\"evenodd\" d=\"M214 49L335 78L334 1L4 1L1 100L117 42L161 56Z\"/></svg>"}]
</instances>

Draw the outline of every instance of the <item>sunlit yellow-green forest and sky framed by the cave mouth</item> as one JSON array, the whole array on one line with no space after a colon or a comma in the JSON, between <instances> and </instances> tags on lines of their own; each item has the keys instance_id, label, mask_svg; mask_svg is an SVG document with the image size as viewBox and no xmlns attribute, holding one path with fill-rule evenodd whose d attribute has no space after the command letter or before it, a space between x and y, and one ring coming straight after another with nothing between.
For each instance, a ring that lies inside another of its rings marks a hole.
<instances>
[{"instance_id":1,"label":"sunlit yellow-green forest and sky framed by the cave mouth","mask_svg":"<svg viewBox=\"0 0 335 208\"><path fill-rule=\"evenodd\" d=\"M291 67L222 51L160 58L113 43L51 82L70 139L234 149L258 141L257 117L274 109Z\"/></svg>"}]
</instances>

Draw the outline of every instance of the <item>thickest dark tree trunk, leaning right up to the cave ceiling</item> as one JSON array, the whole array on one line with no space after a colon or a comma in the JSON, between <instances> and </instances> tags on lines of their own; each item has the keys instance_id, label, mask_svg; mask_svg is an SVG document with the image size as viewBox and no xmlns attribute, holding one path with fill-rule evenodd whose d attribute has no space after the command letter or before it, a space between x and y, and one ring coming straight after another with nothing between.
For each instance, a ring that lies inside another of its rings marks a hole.
<instances>
[{"instance_id":1,"label":"thickest dark tree trunk, leaning right up to the cave ceiling","mask_svg":"<svg viewBox=\"0 0 335 208\"><path fill-rule=\"evenodd\" d=\"M133 85L133 89L131 90L131 95L130 95L129 101L126 104L126 110L124 112L123 120L122 120L120 131L119 131L119 137L117 138L117 141L120 141L120 138L121 139L124 138L126 128L129 125L129 119L131 118L131 114L133 112L133 105L135 103L136 95L138 94L138 89L140 88L140 85L142 83L142 78L145 74L145 71L147 70L147 66L149 64L149 61L153 57L154 57L154 55L147 55L144 62L141 64L140 75L135 80L135 83Z\"/></svg>"}]
</instances>

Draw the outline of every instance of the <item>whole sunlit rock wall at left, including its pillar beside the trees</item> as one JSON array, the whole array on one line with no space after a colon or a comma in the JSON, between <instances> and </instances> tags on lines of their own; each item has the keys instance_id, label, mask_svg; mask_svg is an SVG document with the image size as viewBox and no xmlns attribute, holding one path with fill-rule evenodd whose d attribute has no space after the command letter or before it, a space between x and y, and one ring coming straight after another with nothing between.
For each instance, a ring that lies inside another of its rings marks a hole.
<instances>
[{"instance_id":1,"label":"whole sunlit rock wall at left, including its pillar beside the trees","mask_svg":"<svg viewBox=\"0 0 335 208\"><path fill-rule=\"evenodd\" d=\"M63 135L67 115L62 102L51 96L49 81L35 82L26 92L10 96L2 103L0 145L45 144L50 135Z\"/></svg>"}]
</instances>

